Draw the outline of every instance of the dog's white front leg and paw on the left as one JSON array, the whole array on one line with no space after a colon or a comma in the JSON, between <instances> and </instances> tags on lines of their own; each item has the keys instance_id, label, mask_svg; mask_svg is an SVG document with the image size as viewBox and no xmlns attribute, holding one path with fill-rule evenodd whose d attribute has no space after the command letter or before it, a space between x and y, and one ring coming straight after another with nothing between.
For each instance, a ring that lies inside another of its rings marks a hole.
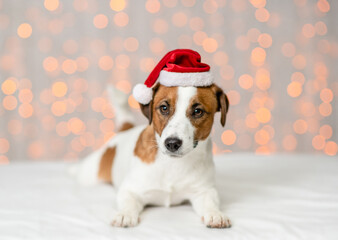
<instances>
[{"instance_id":1,"label":"dog's white front leg and paw on the left","mask_svg":"<svg viewBox=\"0 0 338 240\"><path fill-rule=\"evenodd\" d=\"M139 223L139 215L144 204L135 194L127 191L118 192L117 205L118 213L113 218L113 226L134 227Z\"/></svg>"}]
</instances>

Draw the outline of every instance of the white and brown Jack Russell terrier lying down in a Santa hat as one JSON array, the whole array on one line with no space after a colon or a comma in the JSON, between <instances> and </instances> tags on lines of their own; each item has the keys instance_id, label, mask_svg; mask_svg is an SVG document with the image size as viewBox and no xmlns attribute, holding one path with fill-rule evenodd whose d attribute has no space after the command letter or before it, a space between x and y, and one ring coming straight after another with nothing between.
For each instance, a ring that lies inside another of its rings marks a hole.
<instances>
[{"instance_id":1,"label":"white and brown Jack Russell terrier lying down in a Santa hat","mask_svg":"<svg viewBox=\"0 0 338 240\"><path fill-rule=\"evenodd\" d=\"M133 94L147 126L134 127L128 96L108 90L120 132L74 170L83 184L117 188L116 227L132 227L146 205L190 201L207 227L227 228L214 182L210 132L216 112L225 125L227 96L213 84L210 67L188 49L169 52Z\"/></svg>"}]
</instances>

